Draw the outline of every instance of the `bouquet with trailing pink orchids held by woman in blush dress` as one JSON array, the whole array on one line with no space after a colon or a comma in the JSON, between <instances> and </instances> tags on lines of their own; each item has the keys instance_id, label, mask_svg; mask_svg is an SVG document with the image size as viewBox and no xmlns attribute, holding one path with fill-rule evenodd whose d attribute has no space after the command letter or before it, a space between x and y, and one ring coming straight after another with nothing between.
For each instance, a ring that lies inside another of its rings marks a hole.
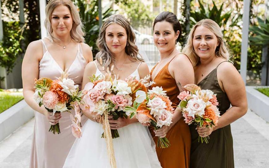
<instances>
[{"instance_id":1,"label":"bouquet with trailing pink orchids held by woman in blush dress","mask_svg":"<svg viewBox=\"0 0 269 168\"><path fill-rule=\"evenodd\" d=\"M33 99L41 107L42 105L47 111L52 112L64 112L71 109L75 109L75 117L70 116L72 120L72 133L75 137L81 136L80 125L80 110L78 103L81 100L82 92L79 92L78 85L72 79L67 78L67 73L63 73L62 76L56 80L49 78L40 78L35 81L35 94ZM55 134L61 133L60 125L51 125L49 132Z\"/></svg>"}]
</instances>

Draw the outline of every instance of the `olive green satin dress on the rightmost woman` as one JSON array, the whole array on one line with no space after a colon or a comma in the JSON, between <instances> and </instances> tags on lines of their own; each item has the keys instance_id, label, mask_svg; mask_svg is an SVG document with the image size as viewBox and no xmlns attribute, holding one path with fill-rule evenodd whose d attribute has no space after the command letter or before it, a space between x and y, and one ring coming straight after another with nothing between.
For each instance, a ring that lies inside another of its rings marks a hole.
<instances>
[{"instance_id":1,"label":"olive green satin dress on the rightmost woman","mask_svg":"<svg viewBox=\"0 0 269 168\"><path fill-rule=\"evenodd\" d=\"M213 69L201 82L199 82L198 86L200 86L201 89L212 90L214 94L217 94L216 97L219 102L218 108L220 111L220 115L223 115L230 108L231 103L228 99L227 94L221 90L218 83L218 66ZM210 139L208 144L198 142L198 133L195 128L196 125L190 125L190 167L233 168L233 136L231 132L231 126L227 125L223 128L213 131L209 136Z\"/></svg>"}]
</instances>

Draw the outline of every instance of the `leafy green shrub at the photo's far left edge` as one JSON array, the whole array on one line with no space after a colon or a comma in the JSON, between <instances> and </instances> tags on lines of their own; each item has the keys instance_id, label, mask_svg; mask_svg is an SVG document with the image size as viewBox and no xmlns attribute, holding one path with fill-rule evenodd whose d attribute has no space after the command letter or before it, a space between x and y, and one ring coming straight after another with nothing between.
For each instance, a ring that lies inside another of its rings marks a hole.
<instances>
[{"instance_id":1,"label":"leafy green shrub at the photo's far left edge","mask_svg":"<svg viewBox=\"0 0 269 168\"><path fill-rule=\"evenodd\" d=\"M20 41L23 39L24 27L19 22L3 22L4 38L0 42L0 66L5 67L7 73L12 72L17 57L23 50Z\"/></svg>"}]
</instances>

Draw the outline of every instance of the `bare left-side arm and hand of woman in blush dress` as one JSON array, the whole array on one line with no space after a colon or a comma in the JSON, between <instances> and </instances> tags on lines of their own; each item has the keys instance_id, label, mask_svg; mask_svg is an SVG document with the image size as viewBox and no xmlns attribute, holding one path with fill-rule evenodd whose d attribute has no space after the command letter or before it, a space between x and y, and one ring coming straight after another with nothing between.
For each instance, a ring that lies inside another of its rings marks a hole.
<instances>
[{"instance_id":1,"label":"bare left-side arm and hand of woman in blush dress","mask_svg":"<svg viewBox=\"0 0 269 168\"><path fill-rule=\"evenodd\" d=\"M44 106L39 107L33 99L33 94L35 93L34 82L35 78L38 79L39 76L39 61L42 56L43 47L41 41L34 41L28 45L22 62L23 97L32 109L45 115L50 124L55 125L60 120L61 114L50 115Z\"/></svg>"}]
</instances>

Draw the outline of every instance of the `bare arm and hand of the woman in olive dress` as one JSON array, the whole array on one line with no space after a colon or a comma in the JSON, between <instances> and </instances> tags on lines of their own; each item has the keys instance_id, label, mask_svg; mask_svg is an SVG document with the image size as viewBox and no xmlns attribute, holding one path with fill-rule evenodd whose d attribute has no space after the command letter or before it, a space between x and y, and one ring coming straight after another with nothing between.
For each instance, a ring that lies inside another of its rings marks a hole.
<instances>
[{"instance_id":1,"label":"bare arm and hand of the woman in olive dress","mask_svg":"<svg viewBox=\"0 0 269 168\"><path fill-rule=\"evenodd\" d=\"M210 135L212 131L223 128L239 119L247 112L245 84L237 69L228 62L222 63L217 71L218 81L231 102L232 107L219 118L218 125L213 128L199 128L200 136ZM205 132L205 133L204 133Z\"/></svg>"}]
</instances>

